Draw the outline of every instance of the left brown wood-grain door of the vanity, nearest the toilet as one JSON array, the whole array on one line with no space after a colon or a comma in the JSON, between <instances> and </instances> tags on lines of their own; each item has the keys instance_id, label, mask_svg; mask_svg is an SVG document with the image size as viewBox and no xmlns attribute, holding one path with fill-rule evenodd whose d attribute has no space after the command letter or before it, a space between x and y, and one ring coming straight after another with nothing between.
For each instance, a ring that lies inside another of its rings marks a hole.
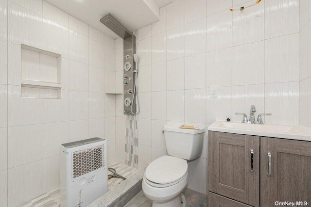
<instances>
[{"instance_id":1,"label":"left brown wood-grain door of the vanity, nearest the toilet","mask_svg":"<svg viewBox=\"0 0 311 207\"><path fill-rule=\"evenodd\" d=\"M258 207L259 141L257 136L208 131L207 190Z\"/></svg>"}]
</instances>

